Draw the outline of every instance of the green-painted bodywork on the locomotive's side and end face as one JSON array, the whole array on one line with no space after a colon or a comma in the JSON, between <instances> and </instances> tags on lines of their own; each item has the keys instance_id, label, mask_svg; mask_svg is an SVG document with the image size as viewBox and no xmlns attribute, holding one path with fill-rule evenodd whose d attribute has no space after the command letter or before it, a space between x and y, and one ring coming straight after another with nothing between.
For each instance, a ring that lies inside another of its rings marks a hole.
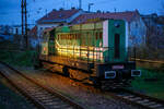
<instances>
[{"instance_id":1,"label":"green-painted bodywork on the locomotive's side and end face","mask_svg":"<svg viewBox=\"0 0 164 109\"><path fill-rule=\"evenodd\" d=\"M119 24L119 27L116 27L115 24ZM119 51L120 57L115 59L115 34L120 35L119 40ZM80 35L80 36L74 36ZM78 37L78 38L73 38ZM58 45L63 47L84 47L87 50L87 47L98 48L103 46L103 22L92 23L92 24L81 24L73 26L63 26L57 27L56 31L50 32L50 38L48 41L48 52L49 55L55 55L57 51ZM108 47L109 50L101 51L103 53L102 62L124 62L126 61L126 24L120 20L108 20ZM93 52L89 51L89 52ZM99 51L97 51L99 52ZM94 51L93 56L97 53ZM71 55L70 55L71 57ZM78 57L80 59L86 60L86 55ZM89 59L93 61L93 59ZM99 61L99 59L97 59Z\"/></svg>"}]
</instances>

